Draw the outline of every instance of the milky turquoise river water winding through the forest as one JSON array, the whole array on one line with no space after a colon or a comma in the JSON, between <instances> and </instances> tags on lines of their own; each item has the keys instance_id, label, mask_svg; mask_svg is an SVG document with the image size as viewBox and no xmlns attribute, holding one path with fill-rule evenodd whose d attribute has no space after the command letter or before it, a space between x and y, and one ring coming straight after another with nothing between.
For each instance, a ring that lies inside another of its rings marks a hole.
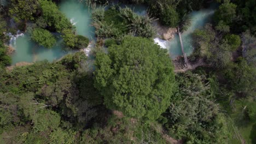
<instances>
[{"instance_id":1,"label":"milky turquoise river water winding through the forest","mask_svg":"<svg viewBox=\"0 0 256 144\"><path fill-rule=\"evenodd\" d=\"M121 5L121 7L125 6L131 7L139 15L145 15L147 11L147 7L144 5ZM77 34L84 35L90 40L95 40L95 28L91 26L91 10L89 10L84 3L79 3L78 0L66 0L59 4L59 8L76 27ZM213 10L200 10L191 13L191 26L182 34L184 51L188 55L193 51L193 47L191 46L191 33L196 28L200 28L205 25L208 18L213 13ZM67 53L73 52L63 50L65 49L65 46L62 43L62 38L59 34L55 35L57 43L50 49L38 46L26 33L10 35L10 46L15 49L15 52L11 56L13 61L12 65L15 65L18 62L36 62L43 61L44 59L52 62L67 55ZM164 41L160 39L155 40L158 40L158 43L162 47L168 49L172 58L182 55L178 35L176 35L176 37L171 41Z\"/></svg>"}]
</instances>

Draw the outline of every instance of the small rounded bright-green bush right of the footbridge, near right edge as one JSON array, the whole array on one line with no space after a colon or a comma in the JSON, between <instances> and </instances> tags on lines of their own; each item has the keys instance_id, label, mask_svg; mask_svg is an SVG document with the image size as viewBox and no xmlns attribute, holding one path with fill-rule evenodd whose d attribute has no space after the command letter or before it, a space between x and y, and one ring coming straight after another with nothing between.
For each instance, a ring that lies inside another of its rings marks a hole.
<instances>
[{"instance_id":1,"label":"small rounded bright-green bush right of the footbridge, near right edge","mask_svg":"<svg viewBox=\"0 0 256 144\"><path fill-rule=\"evenodd\" d=\"M241 45L241 38L239 35L236 34L228 34L224 38L228 41L228 44L230 45L230 48L232 51L237 50L237 48Z\"/></svg>"}]
</instances>

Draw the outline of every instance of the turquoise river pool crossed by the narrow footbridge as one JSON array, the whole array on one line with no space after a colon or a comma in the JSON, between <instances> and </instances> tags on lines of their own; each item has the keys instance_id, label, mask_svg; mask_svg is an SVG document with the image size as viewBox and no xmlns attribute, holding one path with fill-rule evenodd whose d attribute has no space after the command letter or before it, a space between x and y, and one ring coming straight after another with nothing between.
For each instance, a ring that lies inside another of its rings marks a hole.
<instances>
[{"instance_id":1,"label":"turquoise river pool crossed by the narrow footbridge","mask_svg":"<svg viewBox=\"0 0 256 144\"><path fill-rule=\"evenodd\" d=\"M194 11L190 14L191 25L188 27L187 31L182 33L184 52L187 54L187 56L193 52L192 33L195 31L195 29L202 28L207 22L209 22L213 14L213 9ZM167 41L166 48L168 49L172 58L183 55L178 34L176 34L174 39L171 41Z\"/></svg>"}]
</instances>

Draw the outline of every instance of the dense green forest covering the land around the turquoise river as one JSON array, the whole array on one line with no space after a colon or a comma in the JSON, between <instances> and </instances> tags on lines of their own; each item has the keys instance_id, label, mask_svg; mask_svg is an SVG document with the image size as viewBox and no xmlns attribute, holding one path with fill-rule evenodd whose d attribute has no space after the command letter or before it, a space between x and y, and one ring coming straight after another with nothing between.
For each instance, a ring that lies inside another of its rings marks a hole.
<instances>
[{"instance_id":1,"label":"dense green forest covering the land around the turquoise river","mask_svg":"<svg viewBox=\"0 0 256 144\"><path fill-rule=\"evenodd\" d=\"M95 27L92 70L90 40L61 1L0 1L0 143L256 143L256 1L77 1ZM154 43L154 21L185 32L189 14L212 3L188 56L203 64L178 73ZM120 4L146 5L147 15ZM18 30L48 49L57 33L75 52L10 68L8 33Z\"/></svg>"}]
</instances>

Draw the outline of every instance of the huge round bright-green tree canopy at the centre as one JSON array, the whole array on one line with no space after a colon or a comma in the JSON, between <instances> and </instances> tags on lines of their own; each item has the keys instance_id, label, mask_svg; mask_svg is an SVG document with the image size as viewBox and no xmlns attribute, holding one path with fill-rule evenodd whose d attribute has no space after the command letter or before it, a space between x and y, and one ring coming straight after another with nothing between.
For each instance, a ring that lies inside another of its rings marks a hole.
<instances>
[{"instance_id":1,"label":"huge round bright-green tree canopy at the centre","mask_svg":"<svg viewBox=\"0 0 256 144\"><path fill-rule=\"evenodd\" d=\"M127 116L156 119L170 104L173 66L152 40L128 36L108 54L97 53L95 75L106 106Z\"/></svg>"}]
</instances>

